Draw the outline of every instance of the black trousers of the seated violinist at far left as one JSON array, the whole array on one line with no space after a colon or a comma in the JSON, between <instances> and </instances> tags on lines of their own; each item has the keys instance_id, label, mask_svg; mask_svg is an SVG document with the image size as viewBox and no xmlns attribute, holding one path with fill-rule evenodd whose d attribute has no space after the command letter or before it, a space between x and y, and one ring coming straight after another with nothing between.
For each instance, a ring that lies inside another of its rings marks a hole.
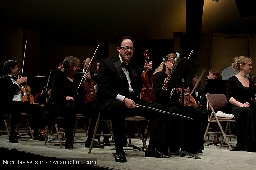
<instances>
[{"instance_id":1,"label":"black trousers of the seated violinist at far left","mask_svg":"<svg viewBox=\"0 0 256 170\"><path fill-rule=\"evenodd\" d=\"M43 107L37 104L12 101L10 107L7 108L7 113L11 114L12 126L21 123L21 112L26 112L31 115L29 123L34 132L38 132L39 129L44 129L45 121Z\"/></svg>"}]
</instances>

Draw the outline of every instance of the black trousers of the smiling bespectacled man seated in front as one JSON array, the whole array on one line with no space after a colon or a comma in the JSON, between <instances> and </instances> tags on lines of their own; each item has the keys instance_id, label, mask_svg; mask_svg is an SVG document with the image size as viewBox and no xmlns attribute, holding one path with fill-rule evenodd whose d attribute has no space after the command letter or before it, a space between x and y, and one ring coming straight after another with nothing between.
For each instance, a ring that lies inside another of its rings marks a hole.
<instances>
[{"instance_id":1,"label":"black trousers of the smiling bespectacled man seated in front","mask_svg":"<svg viewBox=\"0 0 256 170\"><path fill-rule=\"evenodd\" d=\"M135 103L163 110L163 106L156 103L147 103L140 100L135 101ZM167 148L166 114L141 107L130 109L123 102L117 100L108 105L108 111L112 117L112 129L117 152L122 151L123 146L127 144L124 121L126 116L145 116L151 121L151 135L148 149L157 148L162 150Z\"/></svg>"}]
</instances>

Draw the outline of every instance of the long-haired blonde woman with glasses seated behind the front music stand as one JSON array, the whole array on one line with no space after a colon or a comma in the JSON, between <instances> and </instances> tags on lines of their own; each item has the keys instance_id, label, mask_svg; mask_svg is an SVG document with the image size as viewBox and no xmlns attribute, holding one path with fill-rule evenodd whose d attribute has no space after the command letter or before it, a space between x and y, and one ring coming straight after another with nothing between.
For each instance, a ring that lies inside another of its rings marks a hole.
<instances>
[{"instance_id":1,"label":"long-haired blonde woman with glasses seated behind the front music stand","mask_svg":"<svg viewBox=\"0 0 256 170\"><path fill-rule=\"evenodd\" d=\"M154 72L155 102L164 105L169 112L182 113L180 105L180 91L175 88L166 88L169 76L175 61L176 54L170 53L163 58L162 63ZM172 89L173 93L172 93ZM170 95L172 93L172 95ZM183 126L183 149L189 153L199 153L204 149L203 134L206 128L201 110L188 106L184 107L184 116L192 117L193 120L184 120ZM169 149L172 152L179 151L182 137L182 120L172 118L169 121L168 132L172 135L169 139Z\"/></svg>"}]
</instances>

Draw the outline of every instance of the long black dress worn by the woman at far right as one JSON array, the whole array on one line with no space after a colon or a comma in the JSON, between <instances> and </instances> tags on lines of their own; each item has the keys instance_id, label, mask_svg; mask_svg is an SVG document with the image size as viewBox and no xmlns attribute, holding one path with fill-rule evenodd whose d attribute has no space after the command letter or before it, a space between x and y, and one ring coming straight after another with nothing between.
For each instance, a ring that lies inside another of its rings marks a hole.
<instances>
[{"instance_id":1,"label":"long black dress worn by the woman at far right","mask_svg":"<svg viewBox=\"0 0 256 170\"><path fill-rule=\"evenodd\" d=\"M248 77L247 77L248 78ZM236 76L229 78L227 83L227 100L231 97L241 103L249 102L250 107L232 107L232 114L236 119L237 143L234 150L256 151L256 107L254 101L255 88L250 78L249 87L244 87Z\"/></svg>"}]
</instances>

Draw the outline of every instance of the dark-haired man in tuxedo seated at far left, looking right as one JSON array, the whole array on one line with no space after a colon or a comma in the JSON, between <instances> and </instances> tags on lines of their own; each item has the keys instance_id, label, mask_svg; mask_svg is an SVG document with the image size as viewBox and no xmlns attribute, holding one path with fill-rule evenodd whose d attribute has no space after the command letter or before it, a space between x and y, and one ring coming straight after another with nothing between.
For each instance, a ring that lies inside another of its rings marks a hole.
<instances>
[{"instance_id":1,"label":"dark-haired man in tuxedo seated at far left, looking right","mask_svg":"<svg viewBox=\"0 0 256 170\"><path fill-rule=\"evenodd\" d=\"M21 112L26 112L32 116L30 121L31 128L34 130L34 140L44 140L44 112L40 105L22 102L23 94L20 87L27 81L27 77L19 78L19 65L14 60L7 60L4 63L4 71L6 75L0 77L0 84L4 90L1 90L1 96L5 96L1 100L3 105L1 108L4 112L11 114L11 132L9 142L17 143L17 134L15 128L21 123ZM39 132L40 129L40 132Z\"/></svg>"}]
</instances>

